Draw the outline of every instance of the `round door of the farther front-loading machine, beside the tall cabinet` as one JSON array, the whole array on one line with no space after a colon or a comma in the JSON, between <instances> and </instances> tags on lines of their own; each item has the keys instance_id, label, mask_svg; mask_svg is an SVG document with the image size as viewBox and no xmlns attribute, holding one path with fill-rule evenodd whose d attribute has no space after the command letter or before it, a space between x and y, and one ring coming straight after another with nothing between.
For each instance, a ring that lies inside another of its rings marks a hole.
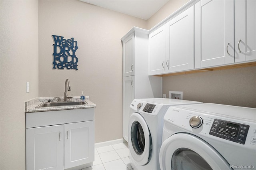
<instances>
[{"instance_id":1,"label":"round door of the farther front-loading machine, beside the tall cabinet","mask_svg":"<svg viewBox=\"0 0 256 170\"><path fill-rule=\"evenodd\" d=\"M129 152L138 165L146 165L152 153L152 139L145 119L132 113L129 119Z\"/></svg>"}]
</instances>

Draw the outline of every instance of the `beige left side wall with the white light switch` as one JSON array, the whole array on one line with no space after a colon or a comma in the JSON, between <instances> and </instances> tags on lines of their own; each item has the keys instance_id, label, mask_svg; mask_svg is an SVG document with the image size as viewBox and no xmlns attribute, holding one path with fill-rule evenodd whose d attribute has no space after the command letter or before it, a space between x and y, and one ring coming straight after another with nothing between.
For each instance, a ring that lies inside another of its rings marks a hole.
<instances>
[{"instance_id":1,"label":"beige left side wall with the white light switch","mask_svg":"<svg viewBox=\"0 0 256 170\"><path fill-rule=\"evenodd\" d=\"M25 169L24 101L38 97L38 1L1 0L0 21L0 169Z\"/></svg>"}]
</instances>

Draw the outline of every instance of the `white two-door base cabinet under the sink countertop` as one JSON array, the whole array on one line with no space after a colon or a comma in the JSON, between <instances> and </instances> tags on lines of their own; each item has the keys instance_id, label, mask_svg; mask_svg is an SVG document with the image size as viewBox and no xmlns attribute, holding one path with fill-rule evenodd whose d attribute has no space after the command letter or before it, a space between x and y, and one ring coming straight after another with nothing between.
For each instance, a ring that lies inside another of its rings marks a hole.
<instances>
[{"instance_id":1,"label":"white two-door base cabinet under the sink countertop","mask_svg":"<svg viewBox=\"0 0 256 170\"><path fill-rule=\"evenodd\" d=\"M26 113L27 170L78 170L93 161L94 108Z\"/></svg>"}]
</instances>

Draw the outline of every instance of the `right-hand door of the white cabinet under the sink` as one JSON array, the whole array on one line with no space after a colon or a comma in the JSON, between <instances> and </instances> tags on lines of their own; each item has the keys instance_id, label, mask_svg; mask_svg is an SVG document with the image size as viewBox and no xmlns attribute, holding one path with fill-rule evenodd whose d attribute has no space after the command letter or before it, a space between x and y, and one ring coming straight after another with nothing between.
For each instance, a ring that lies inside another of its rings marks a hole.
<instances>
[{"instance_id":1,"label":"right-hand door of the white cabinet under the sink","mask_svg":"<svg viewBox=\"0 0 256 170\"><path fill-rule=\"evenodd\" d=\"M94 161L94 121L64 125L64 169Z\"/></svg>"}]
</instances>

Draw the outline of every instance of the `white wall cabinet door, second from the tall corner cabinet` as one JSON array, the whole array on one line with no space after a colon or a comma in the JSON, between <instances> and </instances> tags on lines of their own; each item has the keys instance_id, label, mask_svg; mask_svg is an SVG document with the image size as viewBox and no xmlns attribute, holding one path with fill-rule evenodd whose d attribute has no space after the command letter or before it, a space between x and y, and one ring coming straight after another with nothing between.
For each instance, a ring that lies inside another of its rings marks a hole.
<instances>
[{"instance_id":1,"label":"white wall cabinet door, second from the tall corner cabinet","mask_svg":"<svg viewBox=\"0 0 256 170\"><path fill-rule=\"evenodd\" d=\"M194 69L194 6L166 24L167 72Z\"/></svg>"}]
</instances>

